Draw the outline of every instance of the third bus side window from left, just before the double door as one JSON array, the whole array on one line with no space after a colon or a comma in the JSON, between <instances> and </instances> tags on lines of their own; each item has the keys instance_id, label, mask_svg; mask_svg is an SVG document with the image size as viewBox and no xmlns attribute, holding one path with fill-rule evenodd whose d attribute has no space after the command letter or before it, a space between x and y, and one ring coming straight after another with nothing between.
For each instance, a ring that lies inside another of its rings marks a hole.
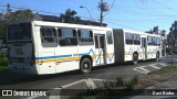
<instances>
[{"instance_id":1,"label":"third bus side window from left, just before the double door","mask_svg":"<svg viewBox=\"0 0 177 99\"><path fill-rule=\"evenodd\" d=\"M79 30L79 44L93 45L93 32L91 30Z\"/></svg>"}]
</instances>

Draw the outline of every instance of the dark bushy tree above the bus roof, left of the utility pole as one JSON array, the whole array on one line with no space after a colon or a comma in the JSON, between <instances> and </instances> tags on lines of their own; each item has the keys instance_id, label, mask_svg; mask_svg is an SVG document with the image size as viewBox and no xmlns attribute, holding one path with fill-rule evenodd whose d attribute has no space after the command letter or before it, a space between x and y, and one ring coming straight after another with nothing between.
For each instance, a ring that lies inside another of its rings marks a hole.
<instances>
[{"instance_id":1,"label":"dark bushy tree above the bus roof, left of the utility pole","mask_svg":"<svg viewBox=\"0 0 177 99\"><path fill-rule=\"evenodd\" d=\"M65 10L65 13L60 15L60 19L64 23L80 23L81 19L80 16L76 16L76 11L67 9Z\"/></svg>"}]
</instances>

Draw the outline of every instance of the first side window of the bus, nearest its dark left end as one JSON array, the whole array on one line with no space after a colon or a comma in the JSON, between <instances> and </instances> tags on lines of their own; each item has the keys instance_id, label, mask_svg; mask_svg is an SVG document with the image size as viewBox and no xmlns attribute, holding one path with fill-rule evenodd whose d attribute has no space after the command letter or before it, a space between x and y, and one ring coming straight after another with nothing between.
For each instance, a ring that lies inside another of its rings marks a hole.
<instances>
[{"instance_id":1,"label":"first side window of the bus, nearest its dark left end","mask_svg":"<svg viewBox=\"0 0 177 99\"><path fill-rule=\"evenodd\" d=\"M41 28L41 42L44 47L56 46L56 31L54 28Z\"/></svg>"}]
</instances>

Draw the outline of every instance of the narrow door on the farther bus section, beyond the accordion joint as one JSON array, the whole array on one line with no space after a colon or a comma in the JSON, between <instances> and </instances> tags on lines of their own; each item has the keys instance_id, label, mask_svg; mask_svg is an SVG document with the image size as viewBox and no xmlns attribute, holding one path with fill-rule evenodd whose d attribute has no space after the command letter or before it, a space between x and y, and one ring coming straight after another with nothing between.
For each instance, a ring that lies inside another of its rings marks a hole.
<instances>
[{"instance_id":1,"label":"narrow door on the farther bus section, beyond the accordion joint","mask_svg":"<svg viewBox=\"0 0 177 99\"><path fill-rule=\"evenodd\" d=\"M146 37L142 37L143 59L147 58L147 43Z\"/></svg>"}]
</instances>

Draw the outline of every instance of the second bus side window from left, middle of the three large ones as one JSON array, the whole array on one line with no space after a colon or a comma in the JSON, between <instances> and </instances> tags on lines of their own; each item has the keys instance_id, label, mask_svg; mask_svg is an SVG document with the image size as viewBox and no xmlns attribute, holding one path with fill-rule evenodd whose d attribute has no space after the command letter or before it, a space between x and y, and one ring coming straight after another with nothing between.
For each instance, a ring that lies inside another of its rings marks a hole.
<instances>
[{"instance_id":1,"label":"second bus side window from left, middle of the three large ones","mask_svg":"<svg viewBox=\"0 0 177 99\"><path fill-rule=\"evenodd\" d=\"M77 45L76 31L74 29L58 29L58 33L61 46Z\"/></svg>"}]
</instances>

